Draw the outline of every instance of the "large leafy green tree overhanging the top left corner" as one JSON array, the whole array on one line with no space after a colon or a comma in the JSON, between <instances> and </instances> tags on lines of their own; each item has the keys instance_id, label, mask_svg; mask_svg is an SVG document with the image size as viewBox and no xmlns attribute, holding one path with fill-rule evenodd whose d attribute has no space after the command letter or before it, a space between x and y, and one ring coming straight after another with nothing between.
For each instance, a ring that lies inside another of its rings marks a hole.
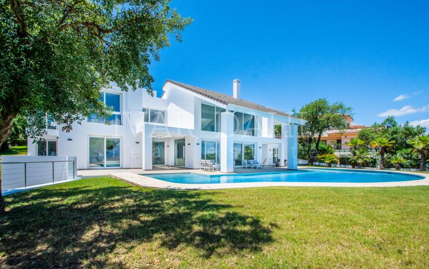
<instances>
[{"instance_id":1,"label":"large leafy green tree overhanging the top left corner","mask_svg":"<svg viewBox=\"0 0 429 269\"><path fill-rule=\"evenodd\" d=\"M27 135L44 133L45 116L70 131L91 113L110 110L99 90L117 83L148 89L151 60L169 36L191 23L166 0L0 0L0 146L13 119ZM0 211L4 211L0 197Z\"/></svg>"}]
</instances>

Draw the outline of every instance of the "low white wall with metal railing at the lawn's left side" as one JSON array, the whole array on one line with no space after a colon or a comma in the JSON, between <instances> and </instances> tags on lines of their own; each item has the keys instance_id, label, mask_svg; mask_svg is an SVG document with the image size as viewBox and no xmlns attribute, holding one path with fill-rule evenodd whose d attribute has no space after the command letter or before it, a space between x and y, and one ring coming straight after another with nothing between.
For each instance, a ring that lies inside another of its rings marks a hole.
<instances>
[{"instance_id":1,"label":"low white wall with metal railing at the lawn's left side","mask_svg":"<svg viewBox=\"0 0 429 269\"><path fill-rule=\"evenodd\" d=\"M2 190L76 178L75 160L2 162Z\"/></svg>"}]
</instances>

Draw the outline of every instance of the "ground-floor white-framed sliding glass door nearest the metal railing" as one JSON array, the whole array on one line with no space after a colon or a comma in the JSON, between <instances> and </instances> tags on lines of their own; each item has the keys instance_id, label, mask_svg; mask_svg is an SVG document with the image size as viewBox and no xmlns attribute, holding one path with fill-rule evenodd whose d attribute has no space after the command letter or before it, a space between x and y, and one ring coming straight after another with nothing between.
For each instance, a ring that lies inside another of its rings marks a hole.
<instances>
[{"instance_id":1,"label":"ground-floor white-framed sliding glass door nearest the metal railing","mask_svg":"<svg viewBox=\"0 0 429 269\"><path fill-rule=\"evenodd\" d=\"M89 137L89 167L119 167L120 139Z\"/></svg>"}]
</instances>

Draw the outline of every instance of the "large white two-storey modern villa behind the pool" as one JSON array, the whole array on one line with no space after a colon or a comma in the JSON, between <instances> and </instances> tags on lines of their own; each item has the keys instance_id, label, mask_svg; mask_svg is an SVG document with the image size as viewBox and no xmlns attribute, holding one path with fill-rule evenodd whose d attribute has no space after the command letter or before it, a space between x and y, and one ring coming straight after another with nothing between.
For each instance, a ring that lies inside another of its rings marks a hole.
<instances>
[{"instance_id":1,"label":"large white two-storey modern villa behind the pool","mask_svg":"<svg viewBox=\"0 0 429 269\"><path fill-rule=\"evenodd\" d=\"M297 127L305 121L282 111L240 99L240 81L233 96L167 80L161 97L145 89L101 91L113 107L111 125L90 116L63 132L47 122L45 142L28 139L28 155L77 156L78 169L141 168L174 165L200 167L201 159L220 163L232 172L233 161L266 161L297 167ZM281 135L274 136L280 124Z\"/></svg>"}]
</instances>

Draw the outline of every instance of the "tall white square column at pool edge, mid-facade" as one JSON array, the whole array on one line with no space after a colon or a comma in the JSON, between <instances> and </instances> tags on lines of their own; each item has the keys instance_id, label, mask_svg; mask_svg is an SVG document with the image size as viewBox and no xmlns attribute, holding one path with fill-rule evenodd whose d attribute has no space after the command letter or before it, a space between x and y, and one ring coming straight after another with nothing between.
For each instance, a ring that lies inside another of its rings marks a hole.
<instances>
[{"instance_id":1,"label":"tall white square column at pool edge, mid-facade","mask_svg":"<svg viewBox=\"0 0 429 269\"><path fill-rule=\"evenodd\" d=\"M221 172L234 172L234 113L221 113Z\"/></svg>"}]
</instances>

